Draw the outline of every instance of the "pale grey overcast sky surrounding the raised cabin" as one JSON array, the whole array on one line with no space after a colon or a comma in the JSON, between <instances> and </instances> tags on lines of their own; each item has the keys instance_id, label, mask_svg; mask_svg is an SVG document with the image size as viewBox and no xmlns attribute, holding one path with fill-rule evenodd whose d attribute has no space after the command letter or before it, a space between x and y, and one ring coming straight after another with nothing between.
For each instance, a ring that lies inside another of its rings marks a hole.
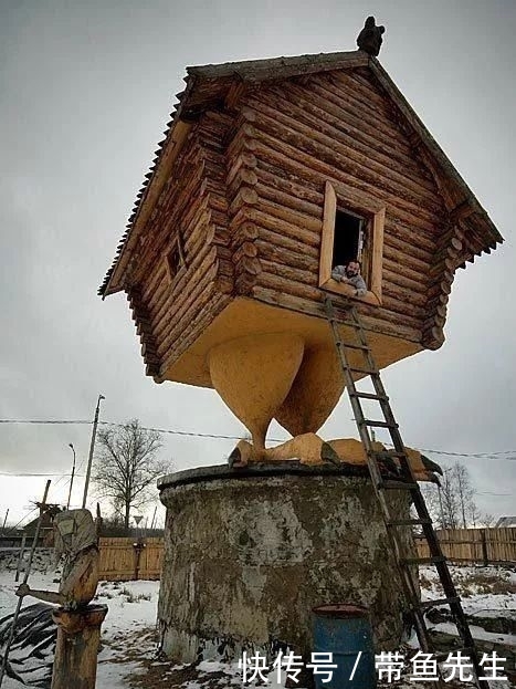
<instances>
[{"instance_id":1,"label":"pale grey overcast sky surrounding the raised cabin","mask_svg":"<svg viewBox=\"0 0 516 689\"><path fill-rule=\"evenodd\" d=\"M514 0L0 8L1 419L88 419L102 393L105 420L242 434L214 392L147 378L124 295L102 302L96 290L187 65L354 50L373 13L387 27L383 66L506 238L457 274L444 346L392 366L385 383L407 445L514 450L464 462L482 511L516 513ZM350 418L343 399L322 435L356 436ZM89 431L0 424L0 471L69 472L69 442L83 463ZM271 436L286 437L277 426ZM181 469L220 463L232 445L170 435L164 453ZM65 500L66 480L53 479L51 500ZM1 476L0 519L8 508L20 519L43 488L43 477ZM81 489L77 481L73 503Z\"/></svg>"}]
</instances>

